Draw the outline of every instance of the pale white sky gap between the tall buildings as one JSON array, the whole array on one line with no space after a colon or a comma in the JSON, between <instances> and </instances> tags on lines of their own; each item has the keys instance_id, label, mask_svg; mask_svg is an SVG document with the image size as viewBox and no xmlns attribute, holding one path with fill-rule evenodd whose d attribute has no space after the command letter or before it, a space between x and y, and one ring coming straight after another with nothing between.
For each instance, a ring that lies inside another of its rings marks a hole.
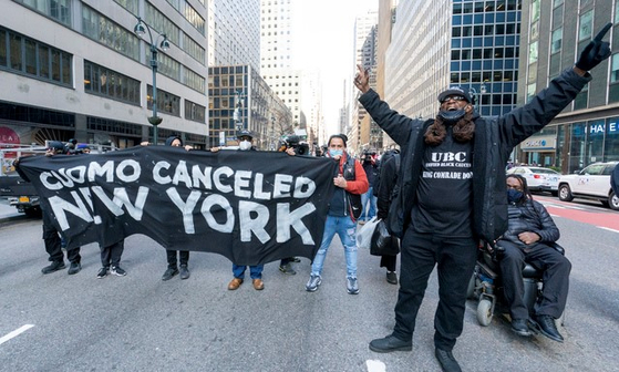
<instances>
[{"instance_id":1,"label":"pale white sky gap between the tall buildings","mask_svg":"<svg viewBox=\"0 0 619 372\"><path fill-rule=\"evenodd\" d=\"M354 75L354 19L378 6L378 0L297 0L293 53L300 68L320 71L329 134L342 106L343 80L351 84Z\"/></svg>"}]
</instances>

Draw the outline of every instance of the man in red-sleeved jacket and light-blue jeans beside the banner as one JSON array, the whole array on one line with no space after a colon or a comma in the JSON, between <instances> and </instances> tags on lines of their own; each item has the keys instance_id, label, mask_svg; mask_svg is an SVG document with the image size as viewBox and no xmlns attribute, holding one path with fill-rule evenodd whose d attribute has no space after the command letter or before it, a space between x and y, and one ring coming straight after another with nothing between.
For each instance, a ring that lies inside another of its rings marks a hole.
<instances>
[{"instance_id":1,"label":"man in red-sleeved jacket and light-blue jeans beside the banner","mask_svg":"<svg viewBox=\"0 0 619 372\"><path fill-rule=\"evenodd\" d=\"M361 163L345 152L348 137L334 134L329 138L328 157L338 162L339 166L333 174L336 192L329 203L329 213L324 224L322 242L311 265L310 279L306 285L308 292L314 292L322 282L320 277L327 251L333 236L338 234L344 247L347 261L347 290L350 294L359 293L357 282L357 218L361 216L361 194L370 187L365 170Z\"/></svg>"}]
</instances>

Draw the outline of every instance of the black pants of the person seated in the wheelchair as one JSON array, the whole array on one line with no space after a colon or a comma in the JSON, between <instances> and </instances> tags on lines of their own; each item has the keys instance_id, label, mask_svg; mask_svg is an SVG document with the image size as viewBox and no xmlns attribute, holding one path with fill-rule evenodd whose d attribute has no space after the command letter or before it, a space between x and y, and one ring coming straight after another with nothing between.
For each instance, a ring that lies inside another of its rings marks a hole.
<instances>
[{"instance_id":1,"label":"black pants of the person seated in the wheelchair","mask_svg":"<svg viewBox=\"0 0 619 372\"><path fill-rule=\"evenodd\" d=\"M535 304L537 316L559 318L565 310L567 292L569 290L569 272L571 264L555 248L545 244L536 244L529 252L525 252L510 241L501 240L505 248L501 259L501 273L503 276L503 292L509 304L513 319L528 319L528 308L524 301L525 288L523 283L523 269L525 262L543 270L544 292L541 300Z\"/></svg>"}]
</instances>

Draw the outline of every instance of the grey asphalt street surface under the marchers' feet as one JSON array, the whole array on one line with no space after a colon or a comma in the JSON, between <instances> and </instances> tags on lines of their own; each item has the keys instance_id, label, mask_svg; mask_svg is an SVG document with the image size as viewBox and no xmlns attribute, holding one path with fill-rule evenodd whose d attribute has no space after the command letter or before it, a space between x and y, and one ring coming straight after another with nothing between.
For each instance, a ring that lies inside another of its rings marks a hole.
<instances>
[{"instance_id":1,"label":"grey asphalt street surface under the marchers' feet","mask_svg":"<svg viewBox=\"0 0 619 372\"><path fill-rule=\"evenodd\" d=\"M572 262L559 329L566 342L520 338L499 316L481 327L476 301L468 301L454 355L464 371L617 371L619 213L599 203L535 197L554 216ZM4 371L440 371L433 347L435 273L420 309L413 351L379 354L368 343L390 333L398 287L385 281L380 259L362 250L360 293L348 294L337 238L317 292L305 290L307 258L293 264L296 276L268 264L262 291L254 290L248 272L238 290L228 291L231 265L214 254L192 252L189 279L162 281L165 251L144 236L125 242L126 277L96 278L94 244L82 248L78 275L65 269L43 276L41 224L28 218L0 223Z\"/></svg>"}]
</instances>

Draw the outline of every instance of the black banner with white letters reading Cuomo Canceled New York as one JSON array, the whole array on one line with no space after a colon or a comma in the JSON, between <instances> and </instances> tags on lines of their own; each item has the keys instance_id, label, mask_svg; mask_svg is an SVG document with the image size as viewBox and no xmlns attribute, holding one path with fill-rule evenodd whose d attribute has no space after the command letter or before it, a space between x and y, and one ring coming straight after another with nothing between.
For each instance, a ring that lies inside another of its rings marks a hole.
<instances>
[{"instance_id":1,"label":"black banner with white letters reading Cuomo Canceled New York","mask_svg":"<svg viewBox=\"0 0 619 372\"><path fill-rule=\"evenodd\" d=\"M144 234L238 265L312 259L336 167L321 157L165 146L20 162L69 247Z\"/></svg>"}]
</instances>

